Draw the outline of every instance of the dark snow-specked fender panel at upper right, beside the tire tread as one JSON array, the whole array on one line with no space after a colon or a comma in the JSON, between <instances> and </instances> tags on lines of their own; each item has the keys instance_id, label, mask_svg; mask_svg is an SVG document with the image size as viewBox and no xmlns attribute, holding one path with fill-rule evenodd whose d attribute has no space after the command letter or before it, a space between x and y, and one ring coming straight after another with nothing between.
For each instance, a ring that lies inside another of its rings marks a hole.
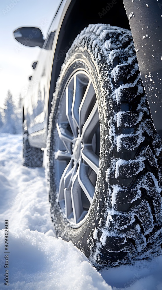
<instances>
[{"instance_id":1,"label":"dark snow-specked fender panel at upper right, beside the tire tread","mask_svg":"<svg viewBox=\"0 0 162 290\"><path fill-rule=\"evenodd\" d=\"M123 0L154 126L162 137L162 4Z\"/></svg>"}]
</instances>

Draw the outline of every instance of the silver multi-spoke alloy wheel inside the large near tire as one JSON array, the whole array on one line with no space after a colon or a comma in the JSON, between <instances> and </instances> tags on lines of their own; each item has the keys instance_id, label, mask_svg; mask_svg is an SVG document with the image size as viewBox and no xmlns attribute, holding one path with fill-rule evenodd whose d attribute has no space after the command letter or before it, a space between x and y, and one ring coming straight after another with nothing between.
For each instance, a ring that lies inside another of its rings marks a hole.
<instances>
[{"instance_id":1,"label":"silver multi-spoke alloy wheel inside the large near tire","mask_svg":"<svg viewBox=\"0 0 162 290\"><path fill-rule=\"evenodd\" d=\"M91 77L77 70L58 108L55 131L58 203L71 226L87 217L95 193L100 154L98 103Z\"/></svg>"}]
</instances>

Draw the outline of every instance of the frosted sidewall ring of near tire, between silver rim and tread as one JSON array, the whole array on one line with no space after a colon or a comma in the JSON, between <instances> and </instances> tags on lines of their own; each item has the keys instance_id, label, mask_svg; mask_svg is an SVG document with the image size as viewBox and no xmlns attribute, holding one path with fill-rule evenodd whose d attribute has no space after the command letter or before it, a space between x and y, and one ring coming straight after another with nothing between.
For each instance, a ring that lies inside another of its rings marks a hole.
<instances>
[{"instance_id":1,"label":"frosted sidewall ring of near tire, between silver rim and tread","mask_svg":"<svg viewBox=\"0 0 162 290\"><path fill-rule=\"evenodd\" d=\"M64 240L69 241L71 240L78 248L82 249L82 251L87 252L87 240L89 239L90 231L93 229L95 230L96 226L99 225L100 221L98 220L98 206L99 203L103 203L103 190L101 189L101 184L105 184L105 178L106 176L106 166L107 164L104 164L105 157L103 157L104 153L104 144L103 144L103 136L105 134L104 132L104 126L105 123L105 114L104 114L104 94L103 88L101 84L103 83L102 77L100 75L100 69L96 66L94 63L91 54L89 54L87 51L81 52L78 51L71 59L67 61L66 64L63 65L60 78L58 79L57 85L56 85L56 92L54 94L54 100L53 100L53 116L52 116L52 130L51 130L51 139L50 139L50 160L54 160L53 158L53 152L55 144L54 144L54 131L56 128L56 122L57 122L57 110L59 108L59 102L61 100L61 97L63 95L64 89L66 88L66 85L73 75L73 73L76 72L76 70L85 70L89 76L92 79L93 86L95 88L95 93L98 101L98 109L99 109L99 117L100 117L100 132L101 132L101 148L100 148L100 162L99 162L99 173L97 176L97 182L95 187L95 194L94 194L94 200L91 209L88 212L88 217L86 218L85 222L78 228L73 228L70 226L69 222L65 219L65 217L62 214L62 211L60 209L60 206L58 204L57 200L57 193L56 193L56 176L55 176L55 170L54 170L54 163L50 163L50 202L52 204L51 206L51 213L52 213L52 219L54 221L54 227L56 230L56 233L58 236L61 236ZM102 71L103 74L103 71ZM100 195L100 191L102 191L102 194ZM104 208L102 204L102 209ZM97 223L97 224L96 224ZM95 242L95 239L94 239Z\"/></svg>"}]
</instances>

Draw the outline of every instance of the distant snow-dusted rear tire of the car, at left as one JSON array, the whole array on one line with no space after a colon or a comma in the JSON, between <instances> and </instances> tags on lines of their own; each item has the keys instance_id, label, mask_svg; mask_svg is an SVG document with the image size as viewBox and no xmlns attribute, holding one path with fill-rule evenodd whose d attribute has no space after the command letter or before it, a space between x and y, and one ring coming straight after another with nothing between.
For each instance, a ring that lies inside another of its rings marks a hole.
<instances>
[{"instance_id":1,"label":"distant snow-dusted rear tire of the car, at left","mask_svg":"<svg viewBox=\"0 0 162 290\"><path fill-rule=\"evenodd\" d=\"M28 134L23 136L23 165L27 167L41 167L43 164L43 151L30 146Z\"/></svg>"}]
</instances>

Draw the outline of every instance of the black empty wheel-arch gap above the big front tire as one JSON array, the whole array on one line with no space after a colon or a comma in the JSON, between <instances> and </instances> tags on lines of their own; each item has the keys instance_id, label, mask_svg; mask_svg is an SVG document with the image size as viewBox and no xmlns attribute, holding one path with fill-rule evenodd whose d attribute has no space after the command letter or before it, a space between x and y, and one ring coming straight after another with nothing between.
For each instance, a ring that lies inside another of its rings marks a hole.
<instances>
[{"instance_id":1,"label":"black empty wheel-arch gap above the big front tire","mask_svg":"<svg viewBox=\"0 0 162 290\"><path fill-rule=\"evenodd\" d=\"M62 21L54 53L51 84L49 89L48 120L51 112L51 102L56 87L56 81L59 77L61 66L65 60L66 52L71 47L73 40L81 30L89 24L96 23L110 24L111 26L130 29L123 1L112 0L106 2L101 0L97 3L97 6L94 5L93 1L70 1L65 17Z\"/></svg>"}]
</instances>

